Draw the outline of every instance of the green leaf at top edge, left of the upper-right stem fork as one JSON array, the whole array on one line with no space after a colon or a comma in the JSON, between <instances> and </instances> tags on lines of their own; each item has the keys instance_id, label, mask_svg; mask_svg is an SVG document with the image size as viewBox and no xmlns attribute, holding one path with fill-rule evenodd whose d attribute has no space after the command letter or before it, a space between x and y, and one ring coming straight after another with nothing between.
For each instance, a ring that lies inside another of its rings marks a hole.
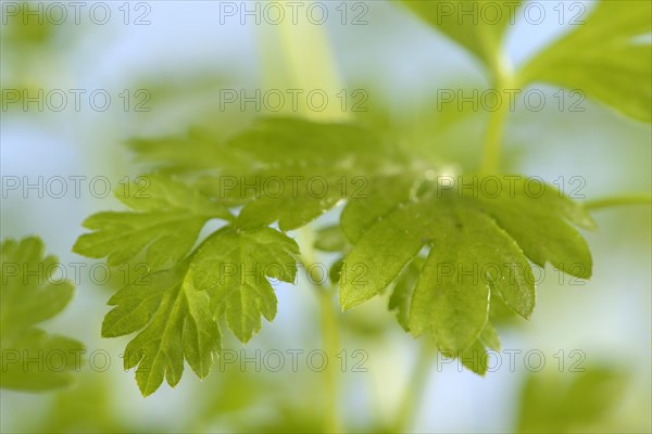
<instances>
[{"instance_id":1,"label":"green leaf at top edge, left of the upper-right stem fork","mask_svg":"<svg viewBox=\"0 0 652 434\"><path fill-rule=\"evenodd\" d=\"M489 68L497 68L504 31L510 23L513 23L522 1L401 0L401 3L424 22L466 48Z\"/></svg>"}]
</instances>

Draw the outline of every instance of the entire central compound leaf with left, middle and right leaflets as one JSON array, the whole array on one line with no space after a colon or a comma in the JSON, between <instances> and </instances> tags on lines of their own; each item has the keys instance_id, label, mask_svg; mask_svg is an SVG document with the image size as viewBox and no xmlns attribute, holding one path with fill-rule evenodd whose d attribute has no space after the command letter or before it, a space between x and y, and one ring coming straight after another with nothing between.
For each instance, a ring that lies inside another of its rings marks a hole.
<instances>
[{"instance_id":1,"label":"entire central compound leaf with left, middle and right leaflets","mask_svg":"<svg viewBox=\"0 0 652 434\"><path fill-rule=\"evenodd\" d=\"M165 379L175 385L184 359L208 374L221 345L220 318L243 343L260 331L262 317L273 320L269 279L293 282L299 253L281 231L340 202L347 202L340 227L318 231L316 247L344 255L329 273L342 307L393 284L389 307L399 323L416 336L430 334L440 350L478 373L487 368L486 348L500 346L491 321L528 318L534 309L528 260L590 277L588 246L570 224L591 228L592 220L540 181L435 181L431 168L398 157L363 128L300 119L263 119L215 146L236 157L237 174L213 155L216 167L187 167L192 187L155 176L147 197L120 194L134 212L91 217L87 226L96 232L75 247L113 265L145 253L156 271L115 294L103 327L105 336L140 331L125 366L138 367L145 395ZM500 191L492 194L492 187ZM228 212L240 206L237 217ZM228 226L192 251L211 218ZM268 227L276 221L281 231Z\"/></svg>"}]
</instances>

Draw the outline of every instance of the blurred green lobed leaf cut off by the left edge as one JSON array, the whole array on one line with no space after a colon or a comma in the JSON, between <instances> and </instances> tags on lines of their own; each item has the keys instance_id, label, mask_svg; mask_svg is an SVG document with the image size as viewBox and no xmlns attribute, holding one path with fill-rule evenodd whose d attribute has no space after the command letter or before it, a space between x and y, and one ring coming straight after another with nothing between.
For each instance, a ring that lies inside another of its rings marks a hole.
<instances>
[{"instance_id":1,"label":"blurred green lobed leaf cut off by the left edge","mask_svg":"<svg viewBox=\"0 0 652 434\"><path fill-rule=\"evenodd\" d=\"M53 278L58 259L45 256L38 238L5 240L1 250L0 386L37 392L71 384L70 371L79 369L84 345L35 326L63 310L73 296L72 282Z\"/></svg>"}]
</instances>

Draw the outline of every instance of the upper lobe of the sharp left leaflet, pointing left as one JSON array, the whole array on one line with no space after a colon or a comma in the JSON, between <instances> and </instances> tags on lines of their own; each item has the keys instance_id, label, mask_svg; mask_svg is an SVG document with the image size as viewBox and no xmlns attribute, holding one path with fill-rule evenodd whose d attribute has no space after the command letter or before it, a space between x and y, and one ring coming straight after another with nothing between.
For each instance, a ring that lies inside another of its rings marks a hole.
<instances>
[{"instance_id":1,"label":"upper lobe of the sharp left leaflet, pointing left","mask_svg":"<svg viewBox=\"0 0 652 434\"><path fill-rule=\"evenodd\" d=\"M75 253L106 257L109 266L118 266L145 251L148 266L158 270L180 261L208 220L233 218L224 205L163 176L123 184L116 196L134 212L90 216L84 226L93 232L79 237L73 247Z\"/></svg>"}]
</instances>

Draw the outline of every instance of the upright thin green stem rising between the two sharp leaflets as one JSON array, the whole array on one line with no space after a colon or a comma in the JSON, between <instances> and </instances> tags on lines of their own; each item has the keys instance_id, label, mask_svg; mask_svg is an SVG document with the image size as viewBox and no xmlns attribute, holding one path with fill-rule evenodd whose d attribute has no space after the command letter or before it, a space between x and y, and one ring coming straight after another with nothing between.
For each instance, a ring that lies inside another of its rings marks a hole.
<instances>
[{"instance_id":1,"label":"upright thin green stem rising between the two sharp leaflets","mask_svg":"<svg viewBox=\"0 0 652 434\"><path fill-rule=\"evenodd\" d=\"M304 242L302 243L302 261L305 269L309 269L312 264L315 264L315 254L311 232L308 227L304 227L303 229L302 238ZM315 270L315 268L312 269ZM335 289L333 286L326 286L322 284L322 280L323 276L311 276L311 282L313 282L315 286L315 294L319 305L322 344L324 345L324 352L328 357L328 363L326 365L326 369L323 371L324 393L326 397L324 431L327 433L339 433L341 432L338 406L339 378L337 366L333 362L333 360L336 359L339 350L338 316L333 302Z\"/></svg>"}]
</instances>

